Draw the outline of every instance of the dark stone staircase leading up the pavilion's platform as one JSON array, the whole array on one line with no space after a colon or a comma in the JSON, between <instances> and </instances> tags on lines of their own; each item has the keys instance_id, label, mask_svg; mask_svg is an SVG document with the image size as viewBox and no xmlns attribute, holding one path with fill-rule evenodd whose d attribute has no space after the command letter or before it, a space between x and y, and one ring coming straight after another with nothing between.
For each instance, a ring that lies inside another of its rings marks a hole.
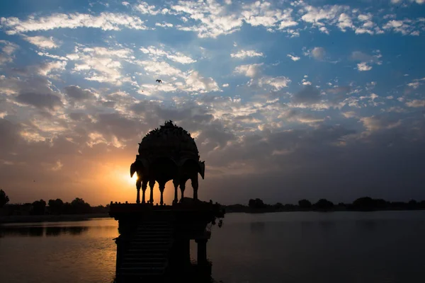
<instances>
[{"instance_id":1,"label":"dark stone staircase leading up the pavilion's platform","mask_svg":"<svg viewBox=\"0 0 425 283\"><path fill-rule=\"evenodd\" d=\"M168 221L140 224L119 268L121 279L124 282L138 282L141 279L156 280L164 277L173 244L173 232Z\"/></svg>"}]
</instances>

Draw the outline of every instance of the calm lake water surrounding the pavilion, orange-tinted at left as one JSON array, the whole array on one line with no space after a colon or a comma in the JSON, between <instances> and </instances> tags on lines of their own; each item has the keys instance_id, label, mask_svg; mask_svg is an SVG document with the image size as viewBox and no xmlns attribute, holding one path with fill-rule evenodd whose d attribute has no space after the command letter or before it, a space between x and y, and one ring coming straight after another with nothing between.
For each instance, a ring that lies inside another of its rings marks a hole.
<instances>
[{"instance_id":1,"label":"calm lake water surrounding the pavilion, orange-tinted at left","mask_svg":"<svg viewBox=\"0 0 425 283\"><path fill-rule=\"evenodd\" d=\"M116 236L113 219L0 226L0 282L111 283ZM423 283L425 211L227 214L208 256L224 283Z\"/></svg>"}]
</instances>

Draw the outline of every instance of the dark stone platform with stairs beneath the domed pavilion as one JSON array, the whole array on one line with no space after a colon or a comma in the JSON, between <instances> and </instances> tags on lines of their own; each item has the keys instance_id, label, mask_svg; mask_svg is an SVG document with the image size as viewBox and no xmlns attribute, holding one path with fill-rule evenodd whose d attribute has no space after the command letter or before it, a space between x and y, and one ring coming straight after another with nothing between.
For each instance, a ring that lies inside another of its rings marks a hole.
<instances>
[{"instance_id":1,"label":"dark stone platform with stairs beneath the domed pavilion","mask_svg":"<svg viewBox=\"0 0 425 283\"><path fill-rule=\"evenodd\" d=\"M211 275L207 260L208 224L223 218L220 204L191 199L173 205L113 204L118 220L116 282L203 281ZM191 263L190 241L198 243L198 262Z\"/></svg>"}]
</instances>

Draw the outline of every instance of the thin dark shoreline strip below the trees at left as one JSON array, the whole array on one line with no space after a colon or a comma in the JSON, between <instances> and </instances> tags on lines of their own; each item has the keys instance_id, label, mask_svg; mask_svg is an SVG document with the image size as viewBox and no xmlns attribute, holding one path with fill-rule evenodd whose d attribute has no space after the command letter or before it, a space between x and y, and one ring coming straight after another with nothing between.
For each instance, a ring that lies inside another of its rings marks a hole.
<instances>
[{"instance_id":1,"label":"thin dark shoreline strip below the trees at left","mask_svg":"<svg viewBox=\"0 0 425 283\"><path fill-rule=\"evenodd\" d=\"M92 218L111 218L107 213L101 214L62 214L62 215L13 215L0 216L0 224L41 223L62 221L85 221Z\"/></svg>"}]
</instances>

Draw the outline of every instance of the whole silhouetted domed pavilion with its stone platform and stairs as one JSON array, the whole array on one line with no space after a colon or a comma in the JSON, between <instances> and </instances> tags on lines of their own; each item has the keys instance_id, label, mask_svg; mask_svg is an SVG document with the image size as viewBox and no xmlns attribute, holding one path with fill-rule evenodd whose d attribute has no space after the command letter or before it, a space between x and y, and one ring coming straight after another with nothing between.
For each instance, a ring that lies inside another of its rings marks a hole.
<instances>
[{"instance_id":1,"label":"whole silhouetted domed pavilion with its stone platform and stairs","mask_svg":"<svg viewBox=\"0 0 425 283\"><path fill-rule=\"evenodd\" d=\"M181 127L166 122L149 132L139 144L139 154L130 166L137 174L135 204L113 204L109 214L118 220L116 281L155 282L171 279L208 279L211 262L207 260L208 224L224 217L220 204L198 200L198 173L204 177L205 164L191 135ZM174 183L174 202L164 205L166 182ZM191 180L193 199L184 197ZM161 205L154 205L153 189L159 184ZM145 201L147 185L149 202ZM178 200L178 189L181 199ZM142 189L142 202L140 202ZM198 261L191 263L191 240L198 243Z\"/></svg>"}]
</instances>

